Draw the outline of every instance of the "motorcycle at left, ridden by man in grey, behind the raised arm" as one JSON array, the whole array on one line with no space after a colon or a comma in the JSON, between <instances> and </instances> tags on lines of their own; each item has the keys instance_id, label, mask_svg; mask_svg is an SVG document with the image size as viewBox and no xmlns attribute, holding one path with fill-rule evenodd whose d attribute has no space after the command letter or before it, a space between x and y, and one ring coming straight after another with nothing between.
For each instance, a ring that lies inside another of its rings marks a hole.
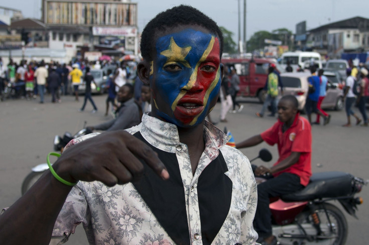
<instances>
[{"instance_id":1,"label":"motorcycle at left, ridden by man in grey, behind the raised arm","mask_svg":"<svg viewBox=\"0 0 369 245\"><path fill-rule=\"evenodd\" d=\"M86 121L84 122L83 129L79 130L77 133L72 135L70 132L65 132L63 136L55 135L54 137L54 150L63 152L64 147L73 138L78 138L80 136L91 133L89 128L86 128ZM27 192L29 188L40 178L40 176L49 169L47 163L41 163L32 168L32 171L25 177L22 183L22 195Z\"/></svg>"}]
</instances>

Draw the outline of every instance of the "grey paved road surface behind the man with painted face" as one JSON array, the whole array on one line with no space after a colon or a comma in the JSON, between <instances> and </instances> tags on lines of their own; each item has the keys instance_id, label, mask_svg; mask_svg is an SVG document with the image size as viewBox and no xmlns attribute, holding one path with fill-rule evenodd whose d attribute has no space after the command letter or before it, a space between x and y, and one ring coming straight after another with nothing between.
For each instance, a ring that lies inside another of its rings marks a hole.
<instances>
[{"instance_id":1,"label":"grey paved road surface behind the man with painted face","mask_svg":"<svg viewBox=\"0 0 369 245\"><path fill-rule=\"evenodd\" d=\"M53 151L55 134L62 135L65 131L75 133L83 127L84 121L88 125L111 119L105 117L106 95L93 97L99 110L95 114L88 103L85 112L78 112L82 101L74 101L73 96L62 97L62 103L51 103L46 97L46 103L39 104L37 100L7 100L0 102L0 207L11 205L21 196L21 184L31 167L45 162L46 155ZM261 109L256 99L239 99L245 106L240 113L229 113L228 123L218 123L225 126L235 136L236 142L260 133L270 127L275 118L258 118L255 112ZM211 115L217 121L220 104L218 103ZM369 178L369 128L353 126L341 127L346 121L343 111L329 111L332 114L330 124L326 126L313 125L313 156L312 168L318 171L347 171L356 176ZM368 111L369 112L369 111ZM313 116L314 117L314 116ZM260 148L266 147L273 153L272 164L277 158L276 146L262 143L258 146L242 149L250 159L257 155ZM260 160L255 161L260 164ZM339 186L337 186L339 188ZM363 188L360 195L364 199L357 211L359 219L345 213L348 220L347 244L366 244L369 234L369 186ZM335 202L339 205L338 202ZM42 207L40 207L42 208ZM80 225L81 226L81 225ZM86 244L86 238L81 227L77 228L68 244Z\"/></svg>"}]
</instances>

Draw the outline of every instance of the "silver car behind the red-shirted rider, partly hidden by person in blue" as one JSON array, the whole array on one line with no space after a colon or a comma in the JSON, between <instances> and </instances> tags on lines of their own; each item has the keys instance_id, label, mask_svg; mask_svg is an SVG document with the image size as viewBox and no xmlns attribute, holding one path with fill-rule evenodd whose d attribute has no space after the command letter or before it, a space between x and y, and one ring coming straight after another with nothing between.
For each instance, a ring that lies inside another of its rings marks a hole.
<instances>
[{"instance_id":1,"label":"silver car behind the red-shirted rider, partly hidden by person in blue","mask_svg":"<svg viewBox=\"0 0 369 245\"><path fill-rule=\"evenodd\" d=\"M309 72L281 73L283 95L295 95L299 104L298 109L300 111L304 111L306 97L308 95L308 79L310 76L311 74ZM327 75L327 77L328 76L329 75ZM321 107L324 109L341 110L343 108L342 96L342 89L337 87L337 85L335 85L328 77L327 94L321 103Z\"/></svg>"}]
</instances>

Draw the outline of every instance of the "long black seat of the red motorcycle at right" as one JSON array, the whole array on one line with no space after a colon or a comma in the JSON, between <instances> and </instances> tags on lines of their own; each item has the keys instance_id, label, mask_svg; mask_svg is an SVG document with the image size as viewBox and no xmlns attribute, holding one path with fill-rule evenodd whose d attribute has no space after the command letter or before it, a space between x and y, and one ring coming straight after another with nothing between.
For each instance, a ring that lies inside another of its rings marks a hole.
<instances>
[{"instance_id":1,"label":"long black seat of the red motorcycle at right","mask_svg":"<svg viewBox=\"0 0 369 245\"><path fill-rule=\"evenodd\" d=\"M310 182L297 192L281 196L284 201L306 201L318 198L351 195L353 176L347 172L329 171L313 173Z\"/></svg>"}]
</instances>

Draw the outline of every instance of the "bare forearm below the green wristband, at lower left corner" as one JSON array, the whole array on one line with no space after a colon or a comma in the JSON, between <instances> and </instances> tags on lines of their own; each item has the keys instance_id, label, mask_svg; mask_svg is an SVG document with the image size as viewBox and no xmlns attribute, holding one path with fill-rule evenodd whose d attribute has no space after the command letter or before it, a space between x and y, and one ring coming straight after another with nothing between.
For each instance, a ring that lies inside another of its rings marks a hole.
<instances>
[{"instance_id":1,"label":"bare forearm below the green wristband, at lower left corner","mask_svg":"<svg viewBox=\"0 0 369 245\"><path fill-rule=\"evenodd\" d=\"M71 188L47 170L0 215L0 244L49 244L55 220Z\"/></svg>"}]
</instances>

